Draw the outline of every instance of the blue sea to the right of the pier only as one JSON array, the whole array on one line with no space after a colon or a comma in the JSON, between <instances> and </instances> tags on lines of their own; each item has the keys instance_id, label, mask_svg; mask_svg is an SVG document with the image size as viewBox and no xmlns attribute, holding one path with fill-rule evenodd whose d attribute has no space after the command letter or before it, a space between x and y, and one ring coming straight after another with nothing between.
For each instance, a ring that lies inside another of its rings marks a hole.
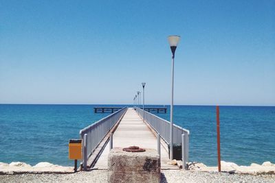
<instances>
[{"instance_id":1,"label":"blue sea to the right of the pier only","mask_svg":"<svg viewBox=\"0 0 275 183\"><path fill-rule=\"evenodd\" d=\"M217 164L215 106L175 106L175 124L190 130L190 160ZM157 114L170 121L167 114ZM221 160L275 162L275 107L220 106Z\"/></svg>"}]
</instances>

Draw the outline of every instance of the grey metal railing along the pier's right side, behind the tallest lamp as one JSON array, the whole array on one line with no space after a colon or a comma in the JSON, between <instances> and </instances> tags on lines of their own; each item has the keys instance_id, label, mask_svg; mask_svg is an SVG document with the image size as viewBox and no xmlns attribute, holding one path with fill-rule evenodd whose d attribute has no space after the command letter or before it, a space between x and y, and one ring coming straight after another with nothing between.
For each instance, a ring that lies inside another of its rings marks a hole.
<instances>
[{"instance_id":1,"label":"grey metal railing along the pier's right side, behind the tallest lamp","mask_svg":"<svg viewBox=\"0 0 275 183\"><path fill-rule=\"evenodd\" d=\"M169 145L170 144L170 122L157 117L150 112L146 112L141 108L135 107L137 114L151 126L153 129L164 139L164 141ZM144 113L143 113L144 112ZM182 135L184 134L184 138ZM185 161L188 162L188 152L189 152L189 130L186 130L178 125L173 124L173 143L176 145L183 146ZM184 139L184 145L182 145L182 139Z\"/></svg>"}]
</instances>

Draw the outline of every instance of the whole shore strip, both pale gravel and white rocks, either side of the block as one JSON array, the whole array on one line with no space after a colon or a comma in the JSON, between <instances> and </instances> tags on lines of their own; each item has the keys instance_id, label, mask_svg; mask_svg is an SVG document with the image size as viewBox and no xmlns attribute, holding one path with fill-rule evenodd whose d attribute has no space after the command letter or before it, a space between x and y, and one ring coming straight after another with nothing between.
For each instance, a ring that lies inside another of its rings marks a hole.
<instances>
[{"instance_id":1,"label":"whole shore strip, both pale gravel and white rocks, either side of the block","mask_svg":"<svg viewBox=\"0 0 275 183\"><path fill-rule=\"evenodd\" d=\"M275 182L275 164L264 162L262 165L238 166L233 162L222 162L221 170L206 167L199 162L190 162L189 170L161 170L161 183L197 183L197 182ZM232 167L246 167L250 171L232 171ZM259 171L259 167L263 167ZM251 171L251 170L256 171ZM269 169L269 171L267 171ZM74 172L74 167L62 167L49 162L39 162L33 167L23 162L10 164L0 162L0 182L108 182L108 171L94 169Z\"/></svg>"}]
</instances>

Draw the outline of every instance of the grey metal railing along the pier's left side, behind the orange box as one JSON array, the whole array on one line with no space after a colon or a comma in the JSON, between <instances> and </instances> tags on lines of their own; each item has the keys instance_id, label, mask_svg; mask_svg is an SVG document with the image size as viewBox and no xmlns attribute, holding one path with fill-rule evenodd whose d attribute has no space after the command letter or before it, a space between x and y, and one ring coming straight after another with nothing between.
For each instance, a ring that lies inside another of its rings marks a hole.
<instances>
[{"instance_id":1,"label":"grey metal railing along the pier's left side, behind the orange box","mask_svg":"<svg viewBox=\"0 0 275 183\"><path fill-rule=\"evenodd\" d=\"M118 122L127 108L122 108L108 117L104 117L94 124L80 130L80 138L83 139L83 167L87 167L87 159L100 144L104 136L108 134L113 125Z\"/></svg>"}]
</instances>

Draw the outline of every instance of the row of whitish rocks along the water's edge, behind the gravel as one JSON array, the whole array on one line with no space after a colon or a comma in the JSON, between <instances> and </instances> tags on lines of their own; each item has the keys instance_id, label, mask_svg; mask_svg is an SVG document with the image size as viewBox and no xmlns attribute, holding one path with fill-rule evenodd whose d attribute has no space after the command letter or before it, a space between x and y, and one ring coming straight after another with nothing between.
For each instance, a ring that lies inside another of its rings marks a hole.
<instances>
[{"instance_id":1,"label":"row of whitish rocks along the water's edge, behind the gravel","mask_svg":"<svg viewBox=\"0 0 275 183\"><path fill-rule=\"evenodd\" d=\"M175 161L175 164L177 162ZM182 170L182 169L181 169ZM217 173L217 167L208 167L201 162L189 162L188 171L200 171ZM252 163L250 166L242 166L234 162L221 161L221 171L230 174L247 175L275 175L275 164L272 162L263 162L263 164ZM10 164L0 162L0 175L18 175L18 174L65 174L74 173L74 167L63 167L50 162L39 162L34 166L25 162L11 162Z\"/></svg>"}]
</instances>

